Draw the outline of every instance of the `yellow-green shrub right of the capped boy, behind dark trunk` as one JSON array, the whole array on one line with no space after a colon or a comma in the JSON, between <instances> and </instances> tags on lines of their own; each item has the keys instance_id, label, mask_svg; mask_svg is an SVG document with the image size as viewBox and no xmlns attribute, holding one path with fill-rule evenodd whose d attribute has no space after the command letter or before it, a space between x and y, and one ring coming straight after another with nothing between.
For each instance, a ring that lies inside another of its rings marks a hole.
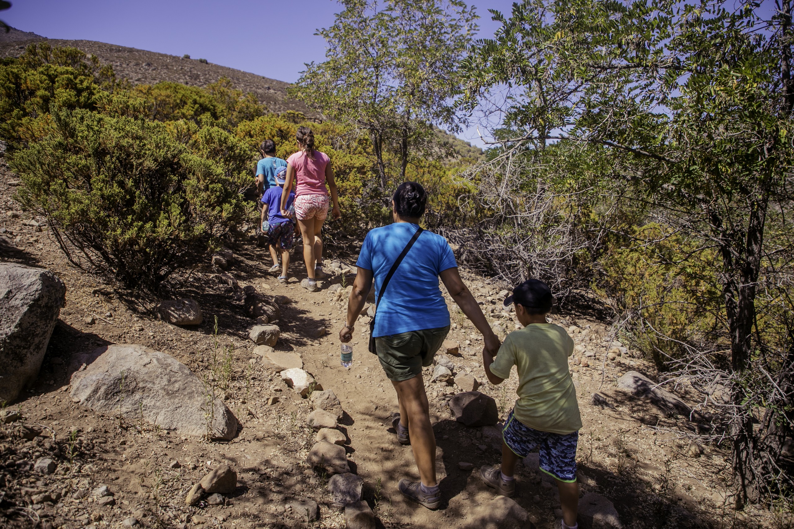
<instances>
[{"instance_id":1,"label":"yellow-green shrub right of the capped boy, behind dark trunk","mask_svg":"<svg viewBox=\"0 0 794 529\"><path fill-rule=\"evenodd\" d=\"M629 317L626 333L634 345L667 370L692 350L727 347L715 263L713 249L647 224L631 228L625 246L607 245L593 285Z\"/></svg>"}]
</instances>

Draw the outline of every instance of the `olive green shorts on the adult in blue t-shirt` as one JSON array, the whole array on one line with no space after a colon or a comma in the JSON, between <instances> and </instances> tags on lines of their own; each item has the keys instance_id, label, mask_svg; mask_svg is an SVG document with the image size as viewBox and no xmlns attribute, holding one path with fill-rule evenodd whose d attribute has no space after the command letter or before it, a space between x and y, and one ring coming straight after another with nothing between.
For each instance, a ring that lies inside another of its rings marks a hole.
<instances>
[{"instance_id":1,"label":"olive green shorts on the adult in blue t-shirt","mask_svg":"<svg viewBox=\"0 0 794 529\"><path fill-rule=\"evenodd\" d=\"M399 382L422 374L422 366L430 366L436 351L444 343L449 325L422 331L400 332L377 336L375 348L380 365L391 381Z\"/></svg>"}]
</instances>

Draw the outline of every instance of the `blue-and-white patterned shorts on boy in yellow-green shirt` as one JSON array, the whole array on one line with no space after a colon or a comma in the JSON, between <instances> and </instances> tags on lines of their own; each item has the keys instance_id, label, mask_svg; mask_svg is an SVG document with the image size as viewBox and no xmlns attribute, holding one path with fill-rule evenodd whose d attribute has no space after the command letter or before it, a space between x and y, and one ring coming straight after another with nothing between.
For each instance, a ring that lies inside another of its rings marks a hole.
<instances>
[{"instance_id":1,"label":"blue-and-white patterned shorts on boy in yellow-green shirt","mask_svg":"<svg viewBox=\"0 0 794 529\"><path fill-rule=\"evenodd\" d=\"M519 458L526 458L537 447L543 472L560 481L576 481L578 430L565 435L535 430L516 419L511 410L502 428L502 439Z\"/></svg>"}]
</instances>

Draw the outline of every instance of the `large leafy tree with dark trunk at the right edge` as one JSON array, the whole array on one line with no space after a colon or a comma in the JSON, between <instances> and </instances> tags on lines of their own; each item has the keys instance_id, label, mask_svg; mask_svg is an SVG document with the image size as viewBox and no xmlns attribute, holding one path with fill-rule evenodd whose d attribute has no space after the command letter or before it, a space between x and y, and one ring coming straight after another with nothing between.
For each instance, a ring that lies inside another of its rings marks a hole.
<instances>
[{"instance_id":1,"label":"large leafy tree with dark trunk at the right edge","mask_svg":"<svg viewBox=\"0 0 794 529\"><path fill-rule=\"evenodd\" d=\"M511 90L504 156L549 141L571 157L603 156L611 168L587 178L630 197L624 207L663 236L684 236L690 255L716 256L721 302L705 308L722 325L727 361L717 346L668 360L704 395L718 379L730 388L715 439L730 439L738 505L791 485L781 450L794 433L794 328L757 310L790 310L792 292L794 40L791 2L780 6L763 20L750 2L526 0L509 19L492 12L502 28L463 65L468 108ZM546 158L532 159L526 171Z\"/></svg>"}]
</instances>

